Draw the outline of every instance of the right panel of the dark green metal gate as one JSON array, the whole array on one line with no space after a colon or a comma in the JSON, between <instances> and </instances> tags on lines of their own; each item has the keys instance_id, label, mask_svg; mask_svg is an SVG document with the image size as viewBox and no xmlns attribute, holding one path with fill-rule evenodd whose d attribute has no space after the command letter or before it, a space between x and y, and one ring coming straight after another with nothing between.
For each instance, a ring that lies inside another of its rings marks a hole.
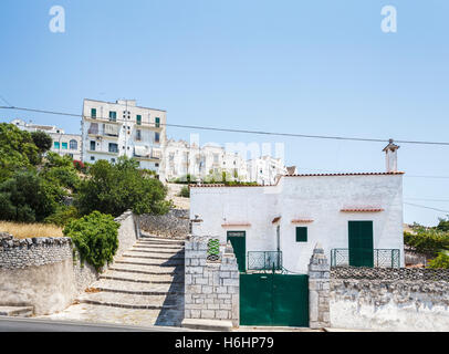
<instances>
[{"instance_id":1,"label":"right panel of the dark green metal gate","mask_svg":"<svg viewBox=\"0 0 449 354\"><path fill-rule=\"evenodd\" d=\"M309 275L273 275L272 325L309 326Z\"/></svg>"}]
</instances>

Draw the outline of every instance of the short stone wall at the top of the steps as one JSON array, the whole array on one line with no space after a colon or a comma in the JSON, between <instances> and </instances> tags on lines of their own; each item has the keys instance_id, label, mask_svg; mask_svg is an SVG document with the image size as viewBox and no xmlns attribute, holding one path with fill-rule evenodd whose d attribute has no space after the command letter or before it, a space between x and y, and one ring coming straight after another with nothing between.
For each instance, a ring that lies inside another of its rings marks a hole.
<instances>
[{"instance_id":1,"label":"short stone wall at the top of the steps","mask_svg":"<svg viewBox=\"0 0 449 354\"><path fill-rule=\"evenodd\" d=\"M190 216L187 209L170 209L166 215L142 215L140 229L170 238L185 238L189 233Z\"/></svg>"}]
</instances>

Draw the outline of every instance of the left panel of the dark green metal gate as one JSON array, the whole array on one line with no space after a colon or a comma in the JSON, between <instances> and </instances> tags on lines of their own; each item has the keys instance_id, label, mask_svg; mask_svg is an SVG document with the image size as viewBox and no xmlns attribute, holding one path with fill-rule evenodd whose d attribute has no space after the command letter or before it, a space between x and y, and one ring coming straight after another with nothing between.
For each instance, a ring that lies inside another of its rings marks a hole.
<instances>
[{"instance_id":1,"label":"left panel of the dark green metal gate","mask_svg":"<svg viewBox=\"0 0 449 354\"><path fill-rule=\"evenodd\" d=\"M271 325L271 274L240 274L240 324Z\"/></svg>"}]
</instances>

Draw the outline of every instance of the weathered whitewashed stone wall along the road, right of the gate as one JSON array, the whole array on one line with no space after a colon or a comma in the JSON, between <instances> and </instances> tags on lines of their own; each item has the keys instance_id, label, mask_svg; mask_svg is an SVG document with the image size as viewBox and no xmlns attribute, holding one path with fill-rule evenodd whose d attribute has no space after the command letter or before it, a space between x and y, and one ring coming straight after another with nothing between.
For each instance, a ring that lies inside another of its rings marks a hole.
<instances>
[{"instance_id":1,"label":"weathered whitewashed stone wall along the road, right of the gate","mask_svg":"<svg viewBox=\"0 0 449 354\"><path fill-rule=\"evenodd\" d=\"M331 325L376 331L447 331L449 272L338 268L331 271Z\"/></svg>"}]
</instances>

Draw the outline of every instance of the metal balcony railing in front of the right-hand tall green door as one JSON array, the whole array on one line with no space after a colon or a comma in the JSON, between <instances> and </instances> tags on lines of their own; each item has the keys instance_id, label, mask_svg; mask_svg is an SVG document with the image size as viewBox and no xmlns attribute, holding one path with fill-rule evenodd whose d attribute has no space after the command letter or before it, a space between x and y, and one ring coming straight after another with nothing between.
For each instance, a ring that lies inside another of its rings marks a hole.
<instances>
[{"instance_id":1,"label":"metal balcony railing in front of the right-hand tall green door","mask_svg":"<svg viewBox=\"0 0 449 354\"><path fill-rule=\"evenodd\" d=\"M349 252L346 248L331 250L331 267L399 268L398 249L362 249Z\"/></svg>"}]
</instances>

